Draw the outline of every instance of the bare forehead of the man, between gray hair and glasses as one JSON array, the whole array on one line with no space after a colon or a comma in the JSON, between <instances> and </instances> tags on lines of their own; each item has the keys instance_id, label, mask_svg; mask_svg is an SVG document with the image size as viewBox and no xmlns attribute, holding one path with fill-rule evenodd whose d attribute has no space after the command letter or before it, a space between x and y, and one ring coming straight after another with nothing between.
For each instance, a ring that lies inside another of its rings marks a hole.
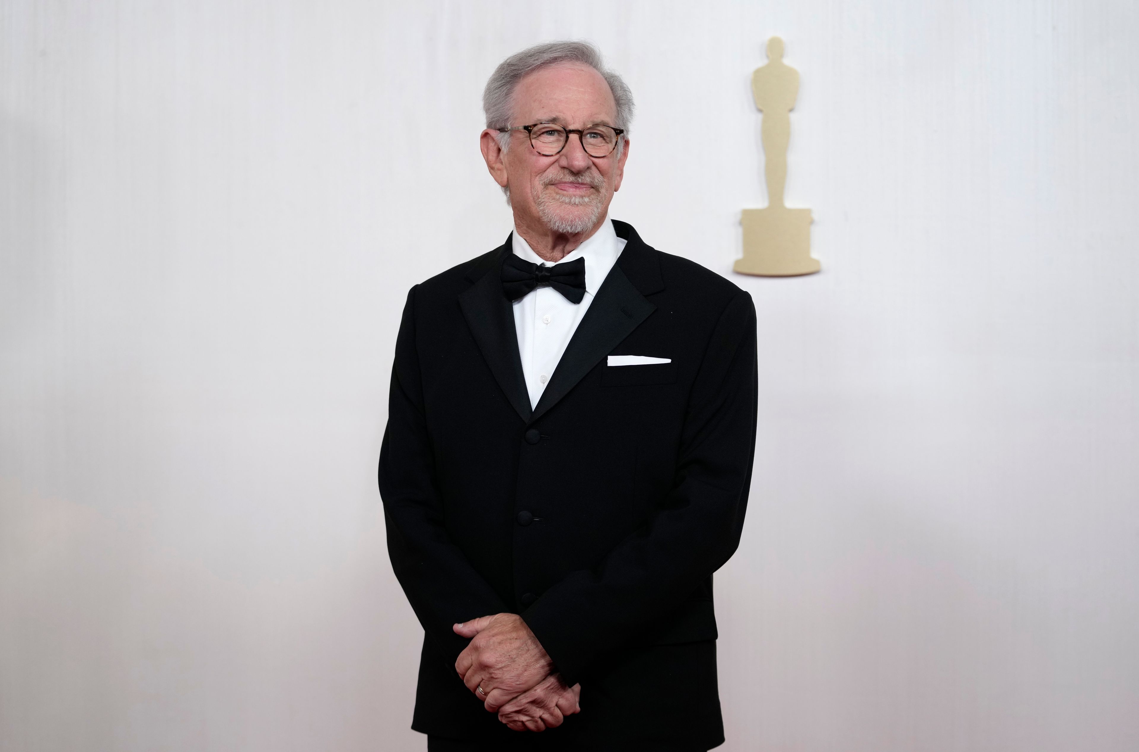
<instances>
[{"instance_id":1,"label":"bare forehead of the man, between gray hair and glasses","mask_svg":"<svg viewBox=\"0 0 1139 752\"><path fill-rule=\"evenodd\" d=\"M582 63L559 63L527 74L514 90L517 124L556 120L613 124L617 103L601 74Z\"/></svg>"}]
</instances>

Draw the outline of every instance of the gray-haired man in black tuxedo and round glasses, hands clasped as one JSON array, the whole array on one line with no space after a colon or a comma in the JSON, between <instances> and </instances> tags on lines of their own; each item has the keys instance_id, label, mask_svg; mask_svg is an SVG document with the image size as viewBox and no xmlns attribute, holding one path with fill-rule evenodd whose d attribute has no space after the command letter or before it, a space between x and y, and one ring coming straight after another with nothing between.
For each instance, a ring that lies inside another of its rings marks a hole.
<instances>
[{"instance_id":1,"label":"gray-haired man in black tuxedo and round glasses, hands clasped","mask_svg":"<svg viewBox=\"0 0 1139 752\"><path fill-rule=\"evenodd\" d=\"M483 101L514 231L408 295L379 464L425 631L412 728L433 752L708 750L752 300L609 220L632 97L596 49L518 52Z\"/></svg>"}]
</instances>

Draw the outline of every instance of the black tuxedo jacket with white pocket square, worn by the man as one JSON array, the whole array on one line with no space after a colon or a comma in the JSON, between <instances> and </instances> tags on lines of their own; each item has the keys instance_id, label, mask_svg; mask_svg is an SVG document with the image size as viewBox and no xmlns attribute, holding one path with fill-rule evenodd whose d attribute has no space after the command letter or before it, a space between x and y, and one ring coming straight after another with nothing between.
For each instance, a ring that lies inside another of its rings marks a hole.
<instances>
[{"instance_id":1,"label":"black tuxedo jacket with white pocket square, worn by the man","mask_svg":"<svg viewBox=\"0 0 1139 752\"><path fill-rule=\"evenodd\" d=\"M755 309L614 226L625 248L534 409L499 278L510 238L408 295L379 488L392 566L426 632L417 730L517 736L462 685L468 640L451 631L511 612L582 685L582 712L533 735L541 744L722 741L712 573L747 504ZM672 362L611 367L611 354Z\"/></svg>"}]
</instances>

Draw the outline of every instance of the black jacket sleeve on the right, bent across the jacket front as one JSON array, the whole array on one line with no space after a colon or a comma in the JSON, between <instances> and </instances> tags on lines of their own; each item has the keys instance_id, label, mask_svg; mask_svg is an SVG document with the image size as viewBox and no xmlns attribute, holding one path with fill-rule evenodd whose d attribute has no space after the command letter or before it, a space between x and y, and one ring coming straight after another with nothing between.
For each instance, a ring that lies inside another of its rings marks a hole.
<instances>
[{"instance_id":1,"label":"black jacket sleeve on the right, bent across the jacket front","mask_svg":"<svg viewBox=\"0 0 1139 752\"><path fill-rule=\"evenodd\" d=\"M571 573L522 614L570 684L680 606L735 553L755 455L756 392L755 308L740 291L694 382L667 497L600 566Z\"/></svg>"}]
</instances>

